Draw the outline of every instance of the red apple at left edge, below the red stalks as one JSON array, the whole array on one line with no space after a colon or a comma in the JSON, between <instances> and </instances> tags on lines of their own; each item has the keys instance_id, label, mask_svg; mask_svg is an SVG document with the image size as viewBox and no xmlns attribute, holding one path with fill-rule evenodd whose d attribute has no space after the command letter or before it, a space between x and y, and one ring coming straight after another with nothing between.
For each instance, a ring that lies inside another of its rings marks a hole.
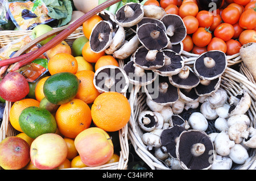
<instances>
[{"instance_id":1,"label":"red apple at left edge, below the red stalks","mask_svg":"<svg viewBox=\"0 0 256 181\"><path fill-rule=\"evenodd\" d=\"M0 82L0 96L10 102L23 99L30 87L26 78L16 71L11 71Z\"/></svg>"}]
</instances>

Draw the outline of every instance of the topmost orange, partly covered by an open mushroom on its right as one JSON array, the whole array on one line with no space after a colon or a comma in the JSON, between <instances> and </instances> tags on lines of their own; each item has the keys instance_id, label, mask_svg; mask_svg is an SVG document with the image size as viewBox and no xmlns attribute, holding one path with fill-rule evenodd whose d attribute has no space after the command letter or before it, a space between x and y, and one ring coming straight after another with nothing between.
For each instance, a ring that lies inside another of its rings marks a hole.
<instances>
[{"instance_id":1,"label":"topmost orange, partly covered by an open mushroom on its right","mask_svg":"<svg viewBox=\"0 0 256 181\"><path fill-rule=\"evenodd\" d=\"M93 15L84 23L82 23L82 31L84 32L84 36L89 40L90 34L92 33L93 27L96 26L98 22L103 20L99 15Z\"/></svg>"}]
</instances>

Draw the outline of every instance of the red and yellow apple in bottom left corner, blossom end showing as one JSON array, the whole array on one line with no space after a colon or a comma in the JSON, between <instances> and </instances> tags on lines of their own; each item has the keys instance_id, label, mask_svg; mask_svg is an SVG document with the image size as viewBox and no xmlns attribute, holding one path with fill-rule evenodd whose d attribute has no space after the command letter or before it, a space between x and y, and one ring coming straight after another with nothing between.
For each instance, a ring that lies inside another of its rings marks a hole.
<instances>
[{"instance_id":1,"label":"red and yellow apple in bottom left corner, blossom end showing","mask_svg":"<svg viewBox=\"0 0 256 181\"><path fill-rule=\"evenodd\" d=\"M0 142L0 166L3 169L22 169L28 162L30 162L30 145L25 140L11 136Z\"/></svg>"}]
</instances>

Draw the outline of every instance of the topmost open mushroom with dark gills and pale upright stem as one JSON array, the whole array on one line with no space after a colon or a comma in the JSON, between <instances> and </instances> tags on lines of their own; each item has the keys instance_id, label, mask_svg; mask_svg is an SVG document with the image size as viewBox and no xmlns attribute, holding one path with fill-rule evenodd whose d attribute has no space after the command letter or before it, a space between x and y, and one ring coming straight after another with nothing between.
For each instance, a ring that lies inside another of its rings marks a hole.
<instances>
[{"instance_id":1,"label":"topmost open mushroom with dark gills and pale upright stem","mask_svg":"<svg viewBox=\"0 0 256 181\"><path fill-rule=\"evenodd\" d=\"M132 27L144 16L144 9L141 3L126 3L115 12L115 22L122 27Z\"/></svg>"}]
</instances>

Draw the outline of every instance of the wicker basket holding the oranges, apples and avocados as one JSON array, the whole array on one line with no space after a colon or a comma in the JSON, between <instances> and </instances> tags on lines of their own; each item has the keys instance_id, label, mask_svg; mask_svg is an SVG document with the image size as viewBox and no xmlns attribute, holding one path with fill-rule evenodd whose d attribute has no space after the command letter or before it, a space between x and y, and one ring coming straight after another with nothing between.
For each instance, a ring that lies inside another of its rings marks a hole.
<instances>
[{"instance_id":1,"label":"wicker basket holding the oranges, apples and avocados","mask_svg":"<svg viewBox=\"0 0 256 181\"><path fill-rule=\"evenodd\" d=\"M11 41L18 39L24 35L31 35L31 30L28 31L0 31L0 48L9 44ZM82 27L80 26L71 35L65 39L65 41L72 47L73 41L78 37L84 36ZM126 96L126 94L123 94ZM19 132L16 131L10 124L9 113L12 102L6 101L6 107L3 113L3 121L0 128L0 142L6 137L15 136ZM129 143L128 143L128 125L119 130L119 142L121 146L120 157L118 162L109 163L97 167L84 167L84 168L71 168L73 170L87 170L87 169L108 169L108 170L125 170L127 169L128 157L129 157Z\"/></svg>"}]
</instances>

